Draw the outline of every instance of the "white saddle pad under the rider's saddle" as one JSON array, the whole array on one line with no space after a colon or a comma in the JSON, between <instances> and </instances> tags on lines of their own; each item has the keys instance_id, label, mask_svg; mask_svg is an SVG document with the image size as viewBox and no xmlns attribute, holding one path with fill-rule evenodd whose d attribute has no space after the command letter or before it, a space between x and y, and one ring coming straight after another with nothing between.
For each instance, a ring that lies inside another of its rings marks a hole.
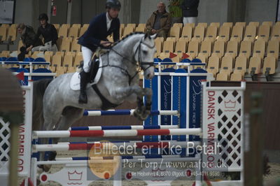
<instances>
[{"instance_id":1,"label":"white saddle pad under the rider's saddle","mask_svg":"<svg viewBox=\"0 0 280 186\"><path fill-rule=\"evenodd\" d=\"M101 74L102 74L102 59L99 58L99 68L97 71L97 75L95 76L93 83L88 83L87 87L91 87L94 84L97 84L99 79L101 78ZM80 73L76 72L73 73L73 76L71 77L70 80L70 88L71 90L80 90Z\"/></svg>"}]
</instances>

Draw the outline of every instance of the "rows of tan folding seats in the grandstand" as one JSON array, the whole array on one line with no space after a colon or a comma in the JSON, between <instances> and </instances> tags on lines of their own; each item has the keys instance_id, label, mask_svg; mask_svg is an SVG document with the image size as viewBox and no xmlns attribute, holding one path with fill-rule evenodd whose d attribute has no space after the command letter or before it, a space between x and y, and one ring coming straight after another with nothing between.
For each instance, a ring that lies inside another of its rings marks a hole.
<instances>
[{"instance_id":1,"label":"rows of tan folding seats in the grandstand","mask_svg":"<svg viewBox=\"0 0 280 186\"><path fill-rule=\"evenodd\" d=\"M257 23L259 27L255 27ZM157 53L155 58L169 57L170 52L178 57L171 58L173 62L181 62L183 53L189 59L201 59L211 69L211 60L218 57L216 71L211 71L217 80L274 80L280 81L279 64L279 23L269 22L231 22L232 27L218 27L211 22L208 26L198 23L195 27L183 24L174 24L169 31L166 41L157 38ZM243 24L244 26L240 26ZM81 58L78 36L83 34L87 24L56 24L59 39L57 41L58 52L29 52L26 57L44 57L50 62L50 69L59 76L62 73L76 71ZM16 40L16 24L3 24L0 27L1 42L17 46L18 50L1 50L0 57L16 57L19 53L22 41ZM143 28L142 30L140 28ZM145 24L121 24L120 39L135 30L145 31ZM186 32L189 32L186 33ZM244 33L244 34L243 34ZM186 37L188 36L188 37ZM109 37L109 41L112 38ZM240 58L244 59L244 66L240 69ZM242 72L240 71L242 70ZM241 76L240 76L241 75ZM258 78L253 78L258 75ZM233 78L235 77L235 78ZM237 78L239 77L239 78Z\"/></svg>"}]
</instances>

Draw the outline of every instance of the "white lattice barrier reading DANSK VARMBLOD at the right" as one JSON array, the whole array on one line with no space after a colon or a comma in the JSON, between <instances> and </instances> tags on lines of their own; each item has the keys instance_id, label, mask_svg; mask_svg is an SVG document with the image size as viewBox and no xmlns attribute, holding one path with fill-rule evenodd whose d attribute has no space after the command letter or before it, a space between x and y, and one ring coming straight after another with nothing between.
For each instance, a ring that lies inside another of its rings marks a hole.
<instances>
[{"instance_id":1,"label":"white lattice barrier reading DANSK VARMBLOD at the right","mask_svg":"<svg viewBox=\"0 0 280 186\"><path fill-rule=\"evenodd\" d=\"M203 140L210 150L203 154L202 162L208 164L205 170L240 172L242 180L245 82L240 87L211 87L210 84L202 83ZM211 153L211 148L217 151Z\"/></svg>"}]
</instances>

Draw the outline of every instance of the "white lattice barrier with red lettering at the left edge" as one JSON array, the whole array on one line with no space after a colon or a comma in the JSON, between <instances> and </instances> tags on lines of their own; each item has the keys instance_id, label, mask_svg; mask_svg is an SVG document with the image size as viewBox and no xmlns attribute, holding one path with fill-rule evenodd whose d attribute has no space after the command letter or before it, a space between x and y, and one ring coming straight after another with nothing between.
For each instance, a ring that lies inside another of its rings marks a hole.
<instances>
[{"instance_id":1,"label":"white lattice barrier with red lettering at the left edge","mask_svg":"<svg viewBox=\"0 0 280 186\"><path fill-rule=\"evenodd\" d=\"M25 178L30 177L31 169L31 126L32 126L32 92L33 85L29 82L28 86L22 86L22 94L24 97L25 110L25 123L20 124L19 129L19 150L18 150L18 176ZM1 185L8 185L8 152L10 150L10 137L9 122L5 122L0 117L0 182ZM27 179L25 180L27 185Z\"/></svg>"}]
</instances>

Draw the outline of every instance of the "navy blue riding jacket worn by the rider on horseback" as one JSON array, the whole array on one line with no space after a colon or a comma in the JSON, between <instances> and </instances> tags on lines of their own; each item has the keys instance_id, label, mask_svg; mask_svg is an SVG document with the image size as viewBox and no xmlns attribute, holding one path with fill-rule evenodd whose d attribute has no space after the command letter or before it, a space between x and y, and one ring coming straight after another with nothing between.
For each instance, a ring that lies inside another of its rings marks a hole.
<instances>
[{"instance_id":1,"label":"navy blue riding jacket worn by the rider on horseback","mask_svg":"<svg viewBox=\"0 0 280 186\"><path fill-rule=\"evenodd\" d=\"M83 36L80 36L78 43L94 52L100 45L100 41L108 41L107 36L113 33L113 41L120 38L120 20L117 18L111 22L111 27L107 31L106 13L99 14L90 21L90 26Z\"/></svg>"}]
</instances>

